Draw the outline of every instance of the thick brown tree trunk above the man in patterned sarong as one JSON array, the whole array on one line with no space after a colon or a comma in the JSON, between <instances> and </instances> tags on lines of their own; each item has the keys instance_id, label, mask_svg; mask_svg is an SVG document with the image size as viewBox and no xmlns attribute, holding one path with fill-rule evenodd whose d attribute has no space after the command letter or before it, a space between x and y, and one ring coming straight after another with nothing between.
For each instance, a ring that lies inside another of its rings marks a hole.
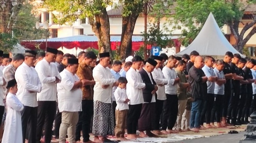
<instances>
[{"instance_id":1,"label":"thick brown tree trunk above the man in patterned sarong","mask_svg":"<svg viewBox=\"0 0 256 143\"><path fill-rule=\"evenodd\" d=\"M99 53L109 52L111 59L113 59L110 45L109 16L107 15L106 9L103 9L101 14L95 15L94 17L95 20L90 18L89 23L98 38Z\"/></svg>"}]
</instances>

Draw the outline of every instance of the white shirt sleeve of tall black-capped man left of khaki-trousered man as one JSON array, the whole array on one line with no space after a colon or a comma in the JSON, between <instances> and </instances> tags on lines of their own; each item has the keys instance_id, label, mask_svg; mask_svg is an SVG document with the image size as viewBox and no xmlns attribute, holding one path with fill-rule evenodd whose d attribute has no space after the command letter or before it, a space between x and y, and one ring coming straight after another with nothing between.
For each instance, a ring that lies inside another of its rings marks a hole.
<instances>
[{"instance_id":1,"label":"white shirt sleeve of tall black-capped man left of khaki-trousered man","mask_svg":"<svg viewBox=\"0 0 256 143\"><path fill-rule=\"evenodd\" d=\"M42 84L48 84L56 80L55 77L47 77L47 73L45 73L44 66L42 66L41 64L36 64L34 69L37 71L38 77Z\"/></svg>"}]
</instances>

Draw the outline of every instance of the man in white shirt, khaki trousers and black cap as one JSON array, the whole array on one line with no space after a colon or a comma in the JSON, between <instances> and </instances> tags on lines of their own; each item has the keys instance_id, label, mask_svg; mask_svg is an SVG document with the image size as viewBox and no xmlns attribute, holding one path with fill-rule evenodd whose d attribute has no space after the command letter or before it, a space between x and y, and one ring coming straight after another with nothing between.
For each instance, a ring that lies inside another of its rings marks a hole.
<instances>
[{"instance_id":1,"label":"man in white shirt, khaki trousers and black cap","mask_svg":"<svg viewBox=\"0 0 256 143\"><path fill-rule=\"evenodd\" d=\"M78 111L82 111L82 82L76 75L77 68L78 59L67 59L67 67L60 73L62 80L57 84L58 108L62 113L60 143L66 143L66 135L69 143L75 142Z\"/></svg>"}]
</instances>

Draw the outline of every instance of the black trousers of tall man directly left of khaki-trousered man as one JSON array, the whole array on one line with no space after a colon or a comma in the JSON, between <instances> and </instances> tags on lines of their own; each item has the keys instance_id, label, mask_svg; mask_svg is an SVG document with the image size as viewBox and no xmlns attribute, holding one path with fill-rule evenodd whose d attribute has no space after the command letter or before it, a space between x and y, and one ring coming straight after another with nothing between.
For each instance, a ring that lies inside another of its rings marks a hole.
<instances>
[{"instance_id":1,"label":"black trousers of tall man directly left of khaki-trousered man","mask_svg":"<svg viewBox=\"0 0 256 143\"><path fill-rule=\"evenodd\" d=\"M43 126L45 143L51 143L55 115L56 101L38 101L36 143L40 143Z\"/></svg>"}]
</instances>

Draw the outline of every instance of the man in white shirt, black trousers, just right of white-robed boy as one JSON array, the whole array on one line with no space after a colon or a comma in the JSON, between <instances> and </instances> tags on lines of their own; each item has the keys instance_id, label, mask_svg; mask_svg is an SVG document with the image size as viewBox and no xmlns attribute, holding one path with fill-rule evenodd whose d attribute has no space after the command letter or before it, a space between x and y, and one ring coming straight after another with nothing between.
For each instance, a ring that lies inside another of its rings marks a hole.
<instances>
[{"instance_id":1,"label":"man in white shirt, black trousers, just right of white-robed boy","mask_svg":"<svg viewBox=\"0 0 256 143\"><path fill-rule=\"evenodd\" d=\"M41 82L36 70L33 68L36 61L36 52L32 50L25 51L25 61L17 68L15 79L18 86L16 93L20 102L24 105L21 111L22 119L22 137L25 143L25 137L28 125L28 141L36 143L36 124L38 104L36 93L41 91Z\"/></svg>"}]
</instances>

